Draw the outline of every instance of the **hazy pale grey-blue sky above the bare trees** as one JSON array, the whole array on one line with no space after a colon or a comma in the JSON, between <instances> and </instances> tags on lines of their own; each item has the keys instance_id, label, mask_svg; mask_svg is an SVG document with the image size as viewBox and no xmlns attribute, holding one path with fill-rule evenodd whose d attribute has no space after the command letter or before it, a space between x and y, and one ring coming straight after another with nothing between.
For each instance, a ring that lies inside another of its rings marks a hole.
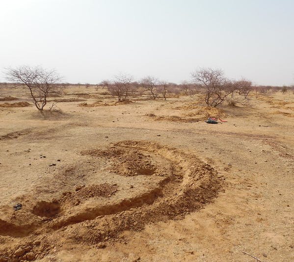
<instances>
[{"instance_id":1,"label":"hazy pale grey-blue sky above the bare trees","mask_svg":"<svg viewBox=\"0 0 294 262\"><path fill-rule=\"evenodd\" d=\"M0 0L0 11L0 71L27 64L70 83L118 72L177 83L212 67L294 83L294 0Z\"/></svg>"}]
</instances>

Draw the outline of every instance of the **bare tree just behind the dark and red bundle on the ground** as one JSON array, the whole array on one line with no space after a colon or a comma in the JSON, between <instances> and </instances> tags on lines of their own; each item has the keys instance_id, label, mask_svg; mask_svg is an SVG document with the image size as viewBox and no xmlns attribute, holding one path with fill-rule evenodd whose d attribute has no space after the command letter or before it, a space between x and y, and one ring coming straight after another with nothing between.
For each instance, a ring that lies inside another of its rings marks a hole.
<instances>
[{"instance_id":1,"label":"bare tree just behind the dark and red bundle on the ground","mask_svg":"<svg viewBox=\"0 0 294 262\"><path fill-rule=\"evenodd\" d=\"M220 69L201 68L191 75L196 84L205 88L205 103L208 107L220 105L234 91L234 85Z\"/></svg>"}]
</instances>

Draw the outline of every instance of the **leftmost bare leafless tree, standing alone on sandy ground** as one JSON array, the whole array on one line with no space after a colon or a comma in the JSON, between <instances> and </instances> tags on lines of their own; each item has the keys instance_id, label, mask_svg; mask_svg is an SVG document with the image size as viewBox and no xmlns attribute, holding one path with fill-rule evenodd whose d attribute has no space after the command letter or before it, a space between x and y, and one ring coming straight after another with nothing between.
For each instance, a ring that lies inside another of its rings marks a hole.
<instances>
[{"instance_id":1,"label":"leftmost bare leafless tree, standing alone on sandy ground","mask_svg":"<svg viewBox=\"0 0 294 262\"><path fill-rule=\"evenodd\" d=\"M21 66L7 68L5 74L9 81L23 84L29 89L34 105L41 112L48 102L48 96L59 91L61 77L55 70Z\"/></svg>"}]
</instances>

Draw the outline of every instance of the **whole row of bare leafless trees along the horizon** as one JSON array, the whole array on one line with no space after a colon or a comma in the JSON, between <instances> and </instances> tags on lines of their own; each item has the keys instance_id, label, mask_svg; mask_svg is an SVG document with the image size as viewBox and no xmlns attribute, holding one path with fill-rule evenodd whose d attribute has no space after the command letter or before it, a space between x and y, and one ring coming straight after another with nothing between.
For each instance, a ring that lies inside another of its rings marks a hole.
<instances>
[{"instance_id":1,"label":"whole row of bare leafless trees along the horizon","mask_svg":"<svg viewBox=\"0 0 294 262\"><path fill-rule=\"evenodd\" d=\"M254 86L251 81L246 79L230 80L220 69L200 68L191 73L191 81L183 81L181 84L160 81L153 76L146 76L139 81L134 81L134 77L129 74L118 74L113 80L104 80L99 84L70 84L62 83L62 78L54 70L47 70L42 67L21 66L18 68L7 68L6 76L9 83L0 83L0 87L9 85L23 85L28 88L32 101L39 111L43 111L48 102L48 97L53 93L58 93L62 87L77 86L107 88L109 93L116 97L118 102L125 101L130 97L149 94L151 99L159 97L166 100L171 95L203 94L203 100L207 107L217 107L228 97L233 97L234 93L242 95L244 99L250 92L266 93L281 90L286 93L289 90L294 92L294 86L272 87Z\"/></svg>"}]
</instances>

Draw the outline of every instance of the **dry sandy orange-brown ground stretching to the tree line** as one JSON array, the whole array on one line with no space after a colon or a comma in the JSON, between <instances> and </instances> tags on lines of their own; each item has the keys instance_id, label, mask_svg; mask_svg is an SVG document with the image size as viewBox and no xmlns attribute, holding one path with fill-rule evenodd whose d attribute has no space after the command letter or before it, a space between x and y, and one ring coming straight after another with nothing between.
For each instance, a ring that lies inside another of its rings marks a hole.
<instances>
[{"instance_id":1,"label":"dry sandy orange-brown ground stretching to the tree line","mask_svg":"<svg viewBox=\"0 0 294 262\"><path fill-rule=\"evenodd\" d=\"M292 92L64 91L0 90L0 262L294 261Z\"/></svg>"}]
</instances>

